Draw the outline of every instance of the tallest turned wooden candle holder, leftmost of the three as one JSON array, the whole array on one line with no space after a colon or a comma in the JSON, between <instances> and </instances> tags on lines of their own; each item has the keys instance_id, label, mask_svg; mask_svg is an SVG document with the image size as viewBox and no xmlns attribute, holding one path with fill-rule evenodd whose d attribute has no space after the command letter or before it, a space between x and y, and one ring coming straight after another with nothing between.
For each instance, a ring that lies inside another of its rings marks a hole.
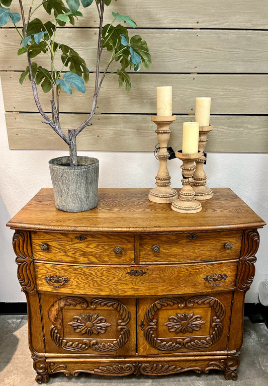
<instances>
[{"instance_id":1,"label":"tallest turned wooden candle holder, leftmost of the three","mask_svg":"<svg viewBox=\"0 0 268 386\"><path fill-rule=\"evenodd\" d=\"M167 170L167 159L169 158L169 153L166 149L167 143L169 140L170 133L172 132L169 129L169 125L176 119L175 115L171 116L152 116L151 120L157 125L155 130L157 134L157 139L159 142L159 152L156 157L159 160L160 166L155 177L156 188L153 188L149 191L148 198L150 201L157 202L159 204L166 204L174 201L177 198L177 192L175 189L170 188L170 179L168 170Z\"/></svg>"}]
</instances>

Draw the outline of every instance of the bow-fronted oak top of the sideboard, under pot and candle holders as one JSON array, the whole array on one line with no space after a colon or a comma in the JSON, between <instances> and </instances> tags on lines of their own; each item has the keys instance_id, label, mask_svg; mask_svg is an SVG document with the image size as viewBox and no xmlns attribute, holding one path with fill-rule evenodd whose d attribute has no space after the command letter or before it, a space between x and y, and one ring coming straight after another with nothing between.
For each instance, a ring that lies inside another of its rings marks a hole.
<instances>
[{"instance_id":1,"label":"bow-fronted oak top of the sideboard, under pot and candle holders","mask_svg":"<svg viewBox=\"0 0 268 386\"><path fill-rule=\"evenodd\" d=\"M176 213L148 200L149 189L99 189L95 209L67 213L55 208L52 188L41 189L8 223L11 228L78 232L175 232L260 228L265 222L231 189L213 189L202 211Z\"/></svg>"}]
</instances>

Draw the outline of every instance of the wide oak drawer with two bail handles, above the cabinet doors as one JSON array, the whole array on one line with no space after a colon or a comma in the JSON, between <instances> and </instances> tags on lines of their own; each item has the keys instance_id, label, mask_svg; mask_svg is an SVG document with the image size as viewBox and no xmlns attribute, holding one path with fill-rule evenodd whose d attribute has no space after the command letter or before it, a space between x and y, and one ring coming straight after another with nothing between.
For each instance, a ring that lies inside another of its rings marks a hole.
<instances>
[{"instance_id":1,"label":"wide oak drawer with two bail handles, above the cabinet doors","mask_svg":"<svg viewBox=\"0 0 268 386\"><path fill-rule=\"evenodd\" d=\"M154 266L34 263L39 291L154 296L235 288L237 261Z\"/></svg>"}]
</instances>

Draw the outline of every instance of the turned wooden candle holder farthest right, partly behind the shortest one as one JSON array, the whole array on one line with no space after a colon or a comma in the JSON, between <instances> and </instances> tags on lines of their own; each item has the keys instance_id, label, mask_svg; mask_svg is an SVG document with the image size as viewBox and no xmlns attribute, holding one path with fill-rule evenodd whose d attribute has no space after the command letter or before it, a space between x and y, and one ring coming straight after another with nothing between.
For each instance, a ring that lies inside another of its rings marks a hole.
<instances>
[{"instance_id":1,"label":"turned wooden candle holder farthest right, partly behind the shortest one","mask_svg":"<svg viewBox=\"0 0 268 386\"><path fill-rule=\"evenodd\" d=\"M203 167L206 161L206 157L204 156L204 149L208 141L207 135L211 130L213 130L212 125L199 127L198 149L201 151L202 157L196 160L196 170L193 175L193 188L198 200L208 200L213 196L212 190L206 186L207 176Z\"/></svg>"}]
</instances>

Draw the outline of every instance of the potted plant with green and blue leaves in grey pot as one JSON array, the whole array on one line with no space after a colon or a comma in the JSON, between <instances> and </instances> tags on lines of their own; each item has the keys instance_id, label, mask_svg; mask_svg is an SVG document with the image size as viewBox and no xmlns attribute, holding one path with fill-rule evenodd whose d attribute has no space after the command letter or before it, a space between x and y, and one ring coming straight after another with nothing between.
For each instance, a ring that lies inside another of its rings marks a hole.
<instances>
[{"instance_id":1,"label":"potted plant with green and blue leaves in grey pot","mask_svg":"<svg viewBox=\"0 0 268 386\"><path fill-rule=\"evenodd\" d=\"M76 137L85 127L91 125L106 76L117 73L119 87L125 85L126 91L129 92L131 83L126 69L138 71L141 65L144 68L151 66L151 56L146 41L139 35L130 38L127 28L121 24L114 25L119 21L135 28L136 23L130 17L113 12L114 20L103 26L105 8L110 6L112 1L32 0L31 7L26 13L23 1L19 0L19 14L10 9L13 0L0 0L0 26L6 25L9 21L14 24L21 38L18 55L25 54L28 59L28 66L21 75L20 83L22 84L28 75L36 106L43 117L42 122L51 126L69 146L69 157L49 161L55 205L63 211L81 212L97 206L99 161L95 158L77 156ZM73 48L57 40L57 30L66 23L74 25L76 19L83 17L79 8L88 8L93 3L98 9L100 21L93 104L84 122L79 127L68 130L67 136L60 124L60 93L72 94L73 87L84 93L84 83L88 81L90 72L84 59ZM35 12L40 7L43 7L51 16L51 20L43 22L35 18ZM17 27L20 21L22 21L22 29ZM104 49L108 50L111 56L105 70L101 72L100 64ZM50 63L48 68L38 65L36 58L40 54L48 56ZM58 56L61 59L59 68L56 65ZM119 62L120 68L111 71L110 65L113 62ZM41 85L44 93L51 93L51 117L42 109L37 85Z\"/></svg>"}]
</instances>

